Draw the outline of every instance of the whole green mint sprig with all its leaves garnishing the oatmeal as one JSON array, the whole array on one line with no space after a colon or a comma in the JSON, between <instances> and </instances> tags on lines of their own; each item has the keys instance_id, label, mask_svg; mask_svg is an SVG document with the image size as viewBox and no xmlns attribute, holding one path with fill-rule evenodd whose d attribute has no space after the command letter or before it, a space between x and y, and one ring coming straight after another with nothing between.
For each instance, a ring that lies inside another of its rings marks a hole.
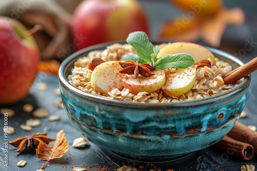
<instances>
[{"instance_id":1,"label":"whole green mint sprig with all its leaves garnishing the oatmeal","mask_svg":"<svg viewBox=\"0 0 257 171\"><path fill-rule=\"evenodd\" d=\"M140 63L149 63L151 66L164 70L167 68L185 69L194 64L194 58L187 53L177 53L174 55L165 55L157 57L160 49L158 46L153 48L153 44L149 41L146 33L136 31L130 33L126 39L130 44L135 54L127 54L124 56L126 60L139 60Z\"/></svg>"}]
</instances>

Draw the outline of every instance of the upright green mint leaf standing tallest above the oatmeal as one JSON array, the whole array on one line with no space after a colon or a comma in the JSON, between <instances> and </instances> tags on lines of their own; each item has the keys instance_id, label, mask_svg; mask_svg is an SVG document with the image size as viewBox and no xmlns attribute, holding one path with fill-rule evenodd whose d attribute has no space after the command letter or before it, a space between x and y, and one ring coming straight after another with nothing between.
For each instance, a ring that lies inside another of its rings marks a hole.
<instances>
[{"instance_id":1,"label":"upright green mint leaf standing tallest above the oatmeal","mask_svg":"<svg viewBox=\"0 0 257 171\"><path fill-rule=\"evenodd\" d=\"M149 41L146 33L142 31L130 33L126 41L134 48L141 60L147 61L146 63L153 62L151 57L151 54L154 53L153 44Z\"/></svg>"}]
</instances>

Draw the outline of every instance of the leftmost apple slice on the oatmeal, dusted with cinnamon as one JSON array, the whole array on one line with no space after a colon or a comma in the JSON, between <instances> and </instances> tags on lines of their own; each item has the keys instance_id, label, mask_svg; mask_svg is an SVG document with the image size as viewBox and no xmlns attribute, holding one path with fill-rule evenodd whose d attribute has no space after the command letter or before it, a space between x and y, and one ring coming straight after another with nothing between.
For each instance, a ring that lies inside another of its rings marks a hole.
<instances>
[{"instance_id":1,"label":"leftmost apple slice on the oatmeal, dusted with cinnamon","mask_svg":"<svg viewBox=\"0 0 257 171\"><path fill-rule=\"evenodd\" d=\"M97 66L91 74L90 82L93 89L106 94L113 88L123 89L122 74L123 68L118 61L107 61Z\"/></svg>"}]
</instances>

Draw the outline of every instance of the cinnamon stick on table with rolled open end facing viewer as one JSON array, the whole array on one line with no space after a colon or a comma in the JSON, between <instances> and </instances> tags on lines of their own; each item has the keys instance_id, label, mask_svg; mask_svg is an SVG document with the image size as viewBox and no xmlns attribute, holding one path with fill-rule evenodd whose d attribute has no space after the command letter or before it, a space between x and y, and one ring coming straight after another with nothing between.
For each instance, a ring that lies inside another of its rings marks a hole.
<instances>
[{"instance_id":1,"label":"cinnamon stick on table with rolled open end facing viewer","mask_svg":"<svg viewBox=\"0 0 257 171\"><path fill-rule=\"evenodd\" d=\"M223 151L226 151L228 154L240 157L244 160L251 160L254 155L252 145L237 141L227 135L225 135L221 141L217 142L215 146L221 148Z\"/></svg>"}]
</instances>

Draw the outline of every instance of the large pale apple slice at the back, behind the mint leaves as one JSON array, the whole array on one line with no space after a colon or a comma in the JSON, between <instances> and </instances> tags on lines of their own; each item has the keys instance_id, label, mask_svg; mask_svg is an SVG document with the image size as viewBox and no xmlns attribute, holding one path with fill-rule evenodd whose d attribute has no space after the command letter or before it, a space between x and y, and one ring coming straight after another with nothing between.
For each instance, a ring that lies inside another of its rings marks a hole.
<instances>
[{"instance_id":1,"label":"large pale apple slice at the back, behind the mint leaves","mask_svg":"<svg viewBox=\"0 0 257 171\"><path fill-rule=\"evenodd\" d=\"M200 59L211 59L212 65L216 63L214 55L205 47L198 44L193 44L191 42L174 42L163 47L157 56L165 56L167 54L176 54L176 53L188 53L190 54L195 61Z\"/></svg>"}]
</instances>

